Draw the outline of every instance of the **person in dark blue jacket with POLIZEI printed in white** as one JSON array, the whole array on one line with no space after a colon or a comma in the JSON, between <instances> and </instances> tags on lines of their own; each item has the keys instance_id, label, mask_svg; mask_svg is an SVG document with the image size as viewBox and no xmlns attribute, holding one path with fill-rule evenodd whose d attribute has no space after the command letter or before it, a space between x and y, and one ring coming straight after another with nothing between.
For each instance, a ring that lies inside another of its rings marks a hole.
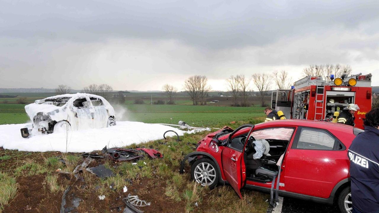
<instances>
[{"instance_id":1,"label":"person in dark blue jacket with POLIZEI printed in white","mask_svg":"<svg viewBox=\"0 0 379 213\"><path fill-rule=\"evenodd\" d=\"M353 213L379 211L379 108L366 113L365 132L352 141L350 160Z\"/></svg>"}]
</instances>

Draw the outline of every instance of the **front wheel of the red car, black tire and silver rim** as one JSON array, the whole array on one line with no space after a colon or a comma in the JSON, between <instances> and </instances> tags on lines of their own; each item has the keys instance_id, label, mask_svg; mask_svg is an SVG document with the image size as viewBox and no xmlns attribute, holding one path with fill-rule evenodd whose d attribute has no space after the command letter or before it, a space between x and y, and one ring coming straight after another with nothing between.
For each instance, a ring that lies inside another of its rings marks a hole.
<instances>
[{"instance_id":1,"label":"front wheel of the red car, black tire and silver rim","mask_svg":"<svg viewBox=\"0 0 379 213\"><path fill-rule=\"evenodd\" d=\"M208 185L210 189L213 189L218 184L219 178L220 174L217 166L209 158L200 158L191 166L191 179L202 186Z\"/></svg>"}]
</instances>

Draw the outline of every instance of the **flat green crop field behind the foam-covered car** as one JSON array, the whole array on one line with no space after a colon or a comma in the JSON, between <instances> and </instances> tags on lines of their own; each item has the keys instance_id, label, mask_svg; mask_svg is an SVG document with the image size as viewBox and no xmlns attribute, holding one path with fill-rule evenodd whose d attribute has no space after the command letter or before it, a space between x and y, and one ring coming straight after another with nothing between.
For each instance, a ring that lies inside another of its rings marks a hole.
<instances>
[{"instance_id":1,"label":"flat green crop field behind the foam-covered car","mask_svg":"<svg viewBox=\"0 0 379 213\"><path fill-rule=\"evenodd\" d=\"M0 124L29 122L22 104L0 103ZM177 124L185 121L196 127L216 127L232 121L263 121L263 107L217 107L193 105L114 105L118 121Z\"/></svg>"}]
</instances>

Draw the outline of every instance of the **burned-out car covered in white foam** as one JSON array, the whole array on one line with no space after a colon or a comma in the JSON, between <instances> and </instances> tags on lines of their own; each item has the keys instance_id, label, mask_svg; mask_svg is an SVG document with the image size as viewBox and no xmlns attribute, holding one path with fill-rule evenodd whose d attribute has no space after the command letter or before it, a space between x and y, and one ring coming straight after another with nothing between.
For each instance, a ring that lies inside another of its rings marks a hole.
<instances>
[{"instance_id":1,"label":"burned-out car covered in white foam","mask_svg":"<svg viewBox=\"0 0 379 213\"><path fill-rule=\"evenodd\" d=\"M101 96L77 93L36 100L25 106L32 124L21 129L23 138L30 134L48 134L116 125L113 107Z\"/></svg>"}]
</instances>

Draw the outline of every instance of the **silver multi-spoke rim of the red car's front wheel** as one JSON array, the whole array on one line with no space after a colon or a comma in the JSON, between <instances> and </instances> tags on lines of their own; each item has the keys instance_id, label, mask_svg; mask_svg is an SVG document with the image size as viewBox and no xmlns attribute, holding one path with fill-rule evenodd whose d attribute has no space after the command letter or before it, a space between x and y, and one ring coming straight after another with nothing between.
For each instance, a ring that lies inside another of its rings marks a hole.
<instances>
[{"instance_id":1,"label":"silver multi-spoke rim of the red car's front wheel","mask_svg":"<svg viewBox=\"0 0 379 213\"><path fill-rule=\"evenodd\" d=\"M210 163L200 163L196 166L194 177L202 186L209 186L216 180L216 170Z\"/></svg>"}]
</instances>

